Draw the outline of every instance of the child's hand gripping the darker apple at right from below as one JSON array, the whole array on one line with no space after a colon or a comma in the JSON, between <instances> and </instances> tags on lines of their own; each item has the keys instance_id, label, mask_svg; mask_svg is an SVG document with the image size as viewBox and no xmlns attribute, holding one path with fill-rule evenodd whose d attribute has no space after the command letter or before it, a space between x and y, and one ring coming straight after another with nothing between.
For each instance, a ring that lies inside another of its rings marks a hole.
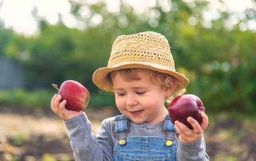
<instances>
[{"instance_id":1,"label":"child's hand gripping the darker apple at right from below","mask_svg":"<svg viewBox=\"0 0 256 161\"><path fill-rule=\"evenodd\" d=\"M179 139L183 143L192 143L202 137L204 130L208 126L208 116L201 112L202 123L199 125L198 121L192 117L188 117L187 121L192 125L193 129L189 129L183 123L175 121L176 131L179 133Z\"/></svg>"}]
</instances>

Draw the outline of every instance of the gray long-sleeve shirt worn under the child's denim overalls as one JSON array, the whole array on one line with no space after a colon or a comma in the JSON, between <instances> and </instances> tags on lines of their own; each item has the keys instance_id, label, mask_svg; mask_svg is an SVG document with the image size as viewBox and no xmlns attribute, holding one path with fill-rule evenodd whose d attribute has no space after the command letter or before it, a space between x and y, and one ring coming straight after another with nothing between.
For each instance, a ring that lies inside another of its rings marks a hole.
<instances>
[{"instance_id":1,"label":"gray long-sleeve shirt worn under the child's denim overalls","mask_svg":"<svg viewBox=\"0 0 256 161\"><path fill-rule=\"evenodd\" d=\"M97 135L92 133L91 122L85 113L64 121L67 127L70 145L76 161L113 161L113 149L116 144L114 117L105 119ZM164 121L157 125L148 123L129 123L128 136L164 137ZM209 161L205 152L204 138L193 143L182 143L177 137L177 161Z\"/></svg>"}]
</instances>

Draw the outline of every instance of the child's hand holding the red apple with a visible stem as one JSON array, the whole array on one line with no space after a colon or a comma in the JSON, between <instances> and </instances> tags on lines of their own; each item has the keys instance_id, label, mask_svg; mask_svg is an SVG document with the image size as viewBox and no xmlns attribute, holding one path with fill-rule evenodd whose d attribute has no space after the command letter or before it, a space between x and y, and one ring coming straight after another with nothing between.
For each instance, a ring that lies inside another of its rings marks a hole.
<instances>
[{"instance_id":1,"label":"child's hand holding the red apple with a visible stem","mask_svg":"<svg viewBox=\"0 0 256 161\"><path fill-rule=\"evenodd\" d=\"M61 100L61 95L55 94L52 97L51 101L51 108L52 111L57 114L60 118L63 120L70 120L73 117L81 115L82 111L77 112L77 111L72 111L65 109L65 104L67 103L66 100L62 101L61 103L59 102Z\"/></svg>"}]
</instances>

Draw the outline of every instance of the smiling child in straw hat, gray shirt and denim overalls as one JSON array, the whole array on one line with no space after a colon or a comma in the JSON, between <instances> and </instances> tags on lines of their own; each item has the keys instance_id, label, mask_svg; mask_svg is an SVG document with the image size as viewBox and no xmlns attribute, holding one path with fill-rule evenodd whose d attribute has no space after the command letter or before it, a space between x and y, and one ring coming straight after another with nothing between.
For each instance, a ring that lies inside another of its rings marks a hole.
<instances>
[{"instance_id":1,"label":"smiling child in straw hat, gray shirt and denim overalls","mask_svg":"<svg viewBox=\"0 0 256 161\"><path fill-rule=\"evenodd\" d=\"M54 95L52 111L67 127L76 161L209 161L201 125L191 117L189 129L173 125L164 103L184 93L189 81L175 72L168 40L155 32L122 35L114 41L108 66L96 70L93 82L114 92L123 115L105 119L92 133L86 113L64 108L66 101Z\"/></svg>"}]
</instances>

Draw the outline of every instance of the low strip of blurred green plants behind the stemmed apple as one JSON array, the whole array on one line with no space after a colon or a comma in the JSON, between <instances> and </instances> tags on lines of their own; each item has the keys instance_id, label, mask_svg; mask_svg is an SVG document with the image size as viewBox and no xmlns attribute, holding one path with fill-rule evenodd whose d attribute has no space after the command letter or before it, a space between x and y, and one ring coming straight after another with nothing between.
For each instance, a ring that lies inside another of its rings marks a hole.
<instances>
[{"instance_id":1,"label":"low strip of blurred green plants behind the stemmed apple","mask_svg":"<svg viewBox=\"0 0 256 161\"><path fill-rule=\"evenodd\" d=\"M55 90L0 90L0 106L16 106L24 108L50 108L50 102ZM113 95L90 93L91 99L87 108L114 106Z\"/></svg>"}]
</instances>

